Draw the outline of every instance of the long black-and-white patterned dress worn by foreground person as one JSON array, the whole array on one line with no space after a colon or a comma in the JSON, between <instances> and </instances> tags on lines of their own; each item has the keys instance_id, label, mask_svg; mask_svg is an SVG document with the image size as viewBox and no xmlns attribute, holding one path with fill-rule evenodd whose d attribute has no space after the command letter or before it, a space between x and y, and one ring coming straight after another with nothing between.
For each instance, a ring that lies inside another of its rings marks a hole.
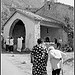
<instances>
[{"instance_id":1,"label":"long black-and-white patterned dress worn by foreground person","mask_svg":"<svg viewBox=\"0 0 75 75\"><path fill-rule=\"evenodd\" d=\"M32 75L46 75L47 70L47 49L46 47L42 47L40 45L36 45L33 47L31 51L31 62L33 64L32 67Z\"/></svg>"}]
</instances>

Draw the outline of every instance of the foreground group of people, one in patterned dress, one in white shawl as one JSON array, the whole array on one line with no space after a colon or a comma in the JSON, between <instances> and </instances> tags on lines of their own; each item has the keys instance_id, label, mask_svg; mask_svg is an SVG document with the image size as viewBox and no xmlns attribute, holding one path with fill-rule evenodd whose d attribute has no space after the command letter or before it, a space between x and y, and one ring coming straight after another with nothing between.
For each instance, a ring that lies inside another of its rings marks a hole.
<instances>
[{"instance_id":1,"label":"foreground group of people, one in patterned dress, one in white shawl","mask_svg":"<svg viewBox=\"0 0 75 75\"><path fill-rule=\"evenodd\" d=\"M50 44L49 38L37 40L31 51L32 75L48 75L47 62L50 60L52 75L60 75L65 53L58 50L55 44Z\"/></svg>"}]
</instances>

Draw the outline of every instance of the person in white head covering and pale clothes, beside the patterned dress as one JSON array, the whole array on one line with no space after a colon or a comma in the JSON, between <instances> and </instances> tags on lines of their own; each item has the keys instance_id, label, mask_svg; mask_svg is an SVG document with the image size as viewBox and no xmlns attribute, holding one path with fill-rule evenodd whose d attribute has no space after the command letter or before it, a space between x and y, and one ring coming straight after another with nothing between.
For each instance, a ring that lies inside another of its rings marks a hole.
<instances>
[{"instance_id":1,"label":"person in white head covering and pale clothes, beside the patterned dress","mask_svg":"<svg viewBox=\"0 0 75 75\"><path fill-rule=\"evenodd\" d=\"M55 49L53 46L49 47L49 51L52 75L60 75L63 65L63 57L66 56L66 54L60 50Z\"/></svg>"}]
</instances>

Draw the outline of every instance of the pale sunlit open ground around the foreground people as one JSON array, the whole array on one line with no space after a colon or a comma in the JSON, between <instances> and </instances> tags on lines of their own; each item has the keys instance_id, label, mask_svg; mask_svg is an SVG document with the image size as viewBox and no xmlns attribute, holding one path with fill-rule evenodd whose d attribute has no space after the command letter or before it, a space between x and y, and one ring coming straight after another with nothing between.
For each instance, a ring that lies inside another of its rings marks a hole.
<instances>
[{"instance_id":1,"label":"pale sunlit open ground around the foreground people","mask_svg":"<svg viewBox=\"0 0 75 75\"><path fill-rule=\"evenodd\" d=\"M73 53L67 55L68 58L73 57ZM32 64L30 63L30 54L1 54L1 56L1 75L31 75ZM64 65L63 67L64 75L74 75L72 63ZM48 75L51 75L51 65L49 61L47 71Z\"/></svg>"}]
</instances>

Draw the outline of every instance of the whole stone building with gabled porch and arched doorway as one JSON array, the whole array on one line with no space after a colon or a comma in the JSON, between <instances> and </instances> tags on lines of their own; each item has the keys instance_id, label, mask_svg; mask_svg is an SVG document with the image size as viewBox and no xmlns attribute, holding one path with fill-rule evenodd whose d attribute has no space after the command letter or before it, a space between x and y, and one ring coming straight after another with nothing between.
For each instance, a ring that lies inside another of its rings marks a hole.
<instances>
[{"instance_id":1,"label":"whole stone building with gabled porch and arched doorway","mask_svg":"<svg viewBox=\"0 0 75 75\"><path fill-rule=\"evenodd\" d=\"M67 33L62 28L65 26L62 14L67 12L63 8L69 9L63 4L47 1L35 13L17 9L5 23L4 39L12 36L15 40L14 44L17 45L17 38L22 36L23 48L29 49L36 44L38 38L44 39L47 36L51 41L54 41L54 38L62 38L63 44L66 44L68 39ZM72 15L72 12L70 14Z\"/></svg>"}]
</instances>

